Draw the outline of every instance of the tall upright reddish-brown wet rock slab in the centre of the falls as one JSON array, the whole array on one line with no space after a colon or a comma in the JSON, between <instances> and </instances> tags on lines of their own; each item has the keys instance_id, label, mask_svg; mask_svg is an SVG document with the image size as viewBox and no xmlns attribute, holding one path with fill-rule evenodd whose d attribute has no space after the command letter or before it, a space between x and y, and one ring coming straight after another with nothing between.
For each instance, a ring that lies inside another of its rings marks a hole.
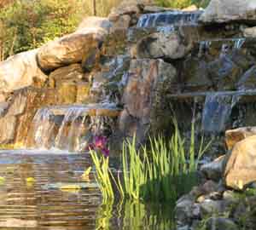
<instances>
[{"instance_id":1,"label":"tall upright reddish-brown wet rock slab in the centre of the falls","mask_svg":"<svg viewBox=\"0 0 256 230\"><path fill-rule=\"evenodd\" d=\"M163 60L131 60L123 95L125 110L120 118L123 133L133 135L138 131L139 138L144 138L149 127L160 126L164 112L157 111L164 104L162 95L171 88L176 75L176 69Z\"/></svg>"}]
</instances>

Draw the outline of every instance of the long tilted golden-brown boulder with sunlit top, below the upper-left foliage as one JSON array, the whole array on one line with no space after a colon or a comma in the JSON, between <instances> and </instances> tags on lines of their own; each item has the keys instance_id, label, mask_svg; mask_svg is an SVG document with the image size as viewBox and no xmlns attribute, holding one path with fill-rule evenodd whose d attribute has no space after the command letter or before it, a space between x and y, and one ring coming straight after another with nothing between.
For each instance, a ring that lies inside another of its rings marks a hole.
<instances>
[{"instance_id":1,"label":"long tilted golden-brown boulder with sunlit top, below the upper-left foliage","mask_svg":"<svg viewBox=\"0 0 256 230\"><path fill-rule=\"evenodd\" d=\"M105 18L93 17L84 20L76 32L46 43L38 50L39 66L49 72L61 66L81 62L86 52L101 46L110 25Z\"/></svg>"}]
</instances>

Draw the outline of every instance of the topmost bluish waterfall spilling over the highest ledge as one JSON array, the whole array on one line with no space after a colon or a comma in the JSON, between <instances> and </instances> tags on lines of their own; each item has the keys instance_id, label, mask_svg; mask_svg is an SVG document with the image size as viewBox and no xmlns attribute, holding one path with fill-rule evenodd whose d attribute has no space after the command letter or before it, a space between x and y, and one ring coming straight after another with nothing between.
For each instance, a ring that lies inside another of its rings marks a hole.
<instances>
[{"instance_id":1,"label":"topmost bluish waterfall spilling over the highest ledge","mask_svg":"<svg viewBox=\"0 0 256 230\"><path fill-rule=\"evenodd\" d=\"M172 25L180 26L196 24L201 14L202 11L168 11L155 14L143 14L137 22L137 27L157 27Z\"/></svg>"}]
</instances>

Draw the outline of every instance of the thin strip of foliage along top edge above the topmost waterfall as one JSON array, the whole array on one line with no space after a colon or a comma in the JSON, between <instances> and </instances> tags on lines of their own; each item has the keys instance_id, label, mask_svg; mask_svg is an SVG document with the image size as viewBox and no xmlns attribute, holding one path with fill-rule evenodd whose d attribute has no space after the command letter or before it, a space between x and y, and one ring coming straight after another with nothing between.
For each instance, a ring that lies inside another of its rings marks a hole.
<instances>
[{"instance_id":1,"label":"thin strip of foliage along top edge above the topmost waterfall","mask_svg":"<svg viewBox=\"0 0 256 230\"><path fill-rule=\"evenodd\" d=\"M210 0L155 0L162 7L183 9L195 4L197 7L206 8Z\"/></svg>"}]
</instances>

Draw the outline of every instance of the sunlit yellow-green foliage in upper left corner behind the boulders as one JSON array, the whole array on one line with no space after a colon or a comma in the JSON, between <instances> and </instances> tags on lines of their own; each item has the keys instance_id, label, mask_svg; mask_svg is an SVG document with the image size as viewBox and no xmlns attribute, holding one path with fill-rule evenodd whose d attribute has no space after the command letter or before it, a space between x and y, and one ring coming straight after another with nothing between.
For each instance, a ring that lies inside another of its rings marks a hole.
<instances>
[{"instance_id":1,"label":"sunlit yellow-green foliage in upper left corner behind the boulders","mask_svg":"<svg viewBox=\"0 0 256 230\"><path fill-rule=\"evenodd\" d=\"M99 16L108 15L120 0L96 0ZM0 60L73 32L92 15L90 0L16 0L0 11Z\"/></svg>"}]
</instances>

